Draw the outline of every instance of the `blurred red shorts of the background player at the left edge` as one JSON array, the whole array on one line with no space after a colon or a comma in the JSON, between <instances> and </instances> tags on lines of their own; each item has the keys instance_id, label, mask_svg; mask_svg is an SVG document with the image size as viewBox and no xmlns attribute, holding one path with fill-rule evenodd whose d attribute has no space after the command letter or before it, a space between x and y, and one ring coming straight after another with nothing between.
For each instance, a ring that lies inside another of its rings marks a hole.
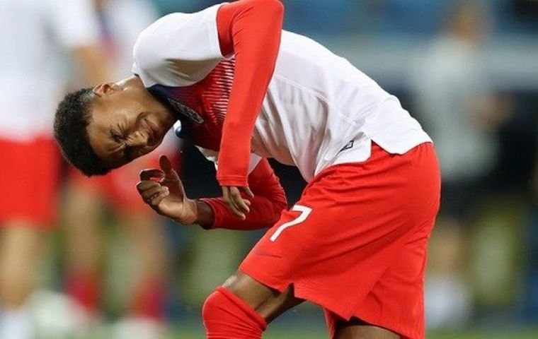
<instances>
[{"instance_id":1,"label":"blurred red shorts of the background player at the left edge","mask_svg":"<svg viewBox=\"0 0 538 339\"><path fill-rule=\"evenodd\" d=\"M60 155L48 137L30 141L0 138L0 225L27 220L48 228L56 210Z\"/></svg>"}]
</instances>

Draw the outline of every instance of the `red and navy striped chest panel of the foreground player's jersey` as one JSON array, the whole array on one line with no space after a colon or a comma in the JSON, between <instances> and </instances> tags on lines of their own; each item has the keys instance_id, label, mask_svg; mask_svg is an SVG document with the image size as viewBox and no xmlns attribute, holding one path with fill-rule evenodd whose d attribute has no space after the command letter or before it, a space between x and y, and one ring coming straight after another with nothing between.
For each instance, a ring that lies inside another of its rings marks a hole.
<instances>
[{"instance_id":1,"label":"red and navy striped chest panel of the foreground player's jersey","mask_svg":"<svg viewBox=\"0 0 538 339\"><path fill-rule=\"evenodd\" d=\"M201 81L173 87L152 85L149 93L167 105L181 121L180 138L210 150L219 150L228 109L235 60L224 60Z\"/></svg>"}]
</instances>

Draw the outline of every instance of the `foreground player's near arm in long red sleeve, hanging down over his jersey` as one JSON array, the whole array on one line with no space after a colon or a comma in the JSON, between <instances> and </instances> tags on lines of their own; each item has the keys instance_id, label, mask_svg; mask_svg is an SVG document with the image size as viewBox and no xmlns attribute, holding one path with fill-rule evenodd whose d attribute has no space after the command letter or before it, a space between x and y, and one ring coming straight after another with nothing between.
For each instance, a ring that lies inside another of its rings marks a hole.
<instances>
[{"instance_id":1,"label":"foreground player's near arm in long red sleeve, hanging down over his jersey","mask_svg":"<svg viewBox=\"0 0 538 339\"><path fill-rule=\"evenodd\" d=\"M232 53L234 83L224 119L217 180L236 215L248 212L239 188L248 192L248 159L254 122L275 69L283 6L277 0L243 0L224 4L217 13L222 55Z\"/></svg>"}]
</instances>

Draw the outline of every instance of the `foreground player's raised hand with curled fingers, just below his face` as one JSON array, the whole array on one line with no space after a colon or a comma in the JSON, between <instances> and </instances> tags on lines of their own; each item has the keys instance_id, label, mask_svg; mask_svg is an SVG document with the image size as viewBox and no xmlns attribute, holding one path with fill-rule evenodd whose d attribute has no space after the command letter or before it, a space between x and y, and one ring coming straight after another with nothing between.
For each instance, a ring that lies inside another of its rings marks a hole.
<instances>
[{"instance_id":1,"label":"foreground player's raised hand with curled fingers, just below his face","mask_svg":"<svg viewBox=\"0 0 538 339\"><path fill-rule=\"evenodd\" d=\"M166 155L159 157L161 169L142 169L137 190L144 203L156 213L165 215L183 225L193 224L197 218L196 203L185 196L178 173Z\"/></svg>"}]
</instances>

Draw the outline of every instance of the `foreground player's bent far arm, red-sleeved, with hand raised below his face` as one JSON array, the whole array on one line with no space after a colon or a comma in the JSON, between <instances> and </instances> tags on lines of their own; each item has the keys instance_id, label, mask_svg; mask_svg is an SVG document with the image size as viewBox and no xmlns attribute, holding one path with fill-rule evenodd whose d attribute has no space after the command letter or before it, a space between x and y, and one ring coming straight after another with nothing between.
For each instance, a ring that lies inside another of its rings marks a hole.
<instances>
[{"instance_id":1,"label":"foreground player's bent far arm, red-sleeved, with hand raised below his face","mask_svg":"<svg viewBox=\"0 0 538 339\"><path fill-rule=\"evenodd\" d=\"M254 230L275 223L287 201L282 186L266 159L258 162L248 175L248 184L256 196L251 198L251 213L237 218L223 198L193 200L185 196L183 184L166 156L159 160L161 169L144 169L137 189L145 203L157 213L184 225L198 224L205 229Z\"/></svg>"}]
</instances>

